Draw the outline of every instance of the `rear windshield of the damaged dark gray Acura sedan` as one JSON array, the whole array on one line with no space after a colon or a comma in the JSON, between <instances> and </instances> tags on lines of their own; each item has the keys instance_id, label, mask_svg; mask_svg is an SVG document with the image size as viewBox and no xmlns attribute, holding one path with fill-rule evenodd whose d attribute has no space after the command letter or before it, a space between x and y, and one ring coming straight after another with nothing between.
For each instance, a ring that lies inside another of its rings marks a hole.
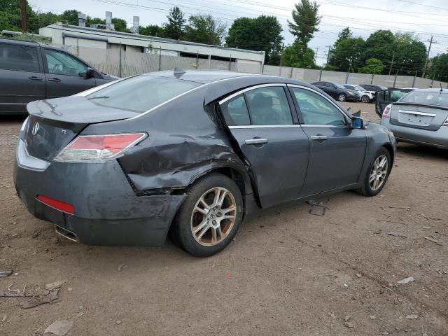
<instances>
[{"instance_id":1,"label":"rear windshield of the damaged dark gray Acura sedan","mask_svg":"<svg viewBox=\"0 0 448 336\"><path fill-rule=\"evenodd\" d=\"M141 75L104 87L87 95L87 99L102 106L146 112L200 85L188 80Z\"/></svg>"}]
</instances>

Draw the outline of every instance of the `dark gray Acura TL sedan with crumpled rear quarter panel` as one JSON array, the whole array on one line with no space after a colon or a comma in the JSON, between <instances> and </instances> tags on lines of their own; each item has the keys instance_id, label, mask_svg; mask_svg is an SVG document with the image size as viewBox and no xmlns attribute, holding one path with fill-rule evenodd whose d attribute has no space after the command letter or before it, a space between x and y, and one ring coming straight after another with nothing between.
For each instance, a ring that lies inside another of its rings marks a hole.
<instances>
[{"instance_id":1,"label":"dark gray Acura TL sedan with crumpled rear quarter panel","mask_svg":"<svg viewBox=\"0 0 448 336\"><path fill-rule=\"evenodd\" d=\"M386 127L289 78L148 73L29 103L14 182L25 207L84 244L207 256L259 209L342 190L377 195Z\"/></svg>"}]
</instances>

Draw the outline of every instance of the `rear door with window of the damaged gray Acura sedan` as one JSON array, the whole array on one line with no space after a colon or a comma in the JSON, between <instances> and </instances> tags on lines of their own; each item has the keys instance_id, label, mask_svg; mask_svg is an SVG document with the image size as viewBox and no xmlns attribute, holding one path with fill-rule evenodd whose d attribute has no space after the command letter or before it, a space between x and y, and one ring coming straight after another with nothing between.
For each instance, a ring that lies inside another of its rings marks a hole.
<instances>
[{"instance_id":1,"label":"rear door with window of the damaged gray Acura sedan","mask_svg":"<svg viewBox=\"0 0 448 336\"><path fill-rule=\"evenodd\" d=\"M286 90L281 84L259 85L220 102L263 208L295 200L307 173L309 140Z\"/></svg>"}]
</instances>

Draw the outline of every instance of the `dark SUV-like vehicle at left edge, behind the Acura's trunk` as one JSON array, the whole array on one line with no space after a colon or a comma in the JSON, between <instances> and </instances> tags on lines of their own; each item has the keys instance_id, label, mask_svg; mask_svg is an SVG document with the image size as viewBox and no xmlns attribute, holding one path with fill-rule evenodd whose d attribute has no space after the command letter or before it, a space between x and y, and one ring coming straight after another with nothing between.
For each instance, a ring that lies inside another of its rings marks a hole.
<instances>
[{"instance_id":1,"label":"dark SUV-like vehicle at left edge, behind the Acura's trunk","mask_svg":"<svg viewBox=\"0 0 448 336\"><path fill-rule=\"evenodd\" d=\"M0 114L27 113L34 100L69 96L116 79L66 50L0 38Z\"/></svg>"}]
</instances>

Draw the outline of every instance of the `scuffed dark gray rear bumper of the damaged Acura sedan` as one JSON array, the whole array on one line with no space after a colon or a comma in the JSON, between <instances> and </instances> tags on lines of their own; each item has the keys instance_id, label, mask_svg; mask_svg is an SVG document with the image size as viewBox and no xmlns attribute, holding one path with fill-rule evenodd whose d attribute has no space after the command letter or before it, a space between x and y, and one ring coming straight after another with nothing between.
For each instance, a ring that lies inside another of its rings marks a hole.
<instances>
[{"instance_id":1,"label":"scuffed dark gray rear bumper of the damaged Acura sedan","mask_svg":"<svg viewBox=\"0 0 448 336\"><path fill-rule=\"evenodd\" d=\"M137 196L118 162L48 163L18 150L14 184L36 218L72 232L77 241L99 246L161 246L185 195ZM40 165L39 165L40 163ZM46 167L45 167L46 166ZM36 199L43 195L72 204L66 214Z\"/></svg>"}]
</instances>

